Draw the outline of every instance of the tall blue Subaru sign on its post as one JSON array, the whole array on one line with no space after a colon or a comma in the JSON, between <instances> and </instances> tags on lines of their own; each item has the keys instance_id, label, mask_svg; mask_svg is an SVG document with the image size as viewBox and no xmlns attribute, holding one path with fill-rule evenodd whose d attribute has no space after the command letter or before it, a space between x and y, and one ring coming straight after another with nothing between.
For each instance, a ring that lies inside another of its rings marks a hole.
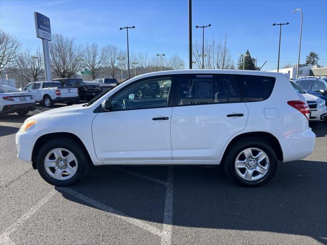
<instances>
[{"instance_id":1,"label":"tall blue Subaru sign on its post","mask_svg":"<svg viewBox=\"0 0 327 245\"><path fill-rule=\"evenodd\" d=\"M48 43L48 41L52 41L50 18L38 12L34 12L34 20L35 20L36 37L42 39L45 80L51 82L52 77L51 77L49 43Z\"/></svg>"}]
</instances>

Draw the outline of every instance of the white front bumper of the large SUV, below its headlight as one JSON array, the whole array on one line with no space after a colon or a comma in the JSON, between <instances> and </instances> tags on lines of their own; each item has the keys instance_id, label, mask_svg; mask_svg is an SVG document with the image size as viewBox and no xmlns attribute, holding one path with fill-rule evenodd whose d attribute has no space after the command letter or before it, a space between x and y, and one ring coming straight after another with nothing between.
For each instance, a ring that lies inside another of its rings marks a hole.
<instances>
[{"instance_id":1,"label":"white front bumper of the large SUV, below its headlight","mask_svg":"<svg viewBox=\"0 0 327 245\"><path fill-rule=\"evenodd\" d=\"M16 133L16 148L18 151L17 157L26 162L32 162L32 152L37 140L37 136L26 132Z\"/></svg>"}]
</instances>

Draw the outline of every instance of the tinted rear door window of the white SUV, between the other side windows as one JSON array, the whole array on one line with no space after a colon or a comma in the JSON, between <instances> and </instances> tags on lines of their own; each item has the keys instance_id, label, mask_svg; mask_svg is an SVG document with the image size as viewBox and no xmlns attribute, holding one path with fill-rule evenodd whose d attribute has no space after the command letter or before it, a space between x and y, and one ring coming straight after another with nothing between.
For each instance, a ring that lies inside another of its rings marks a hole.
<instances>
[{"instance_id":1,"label":"tinted rear door window of the white SUV, between the other side windows","mask_svg":"<svg viewBox=\"0 0 327 245\"><path fill-rule=\"evenodd\" d=\"M241 102L229 75L180 76L178 106Z\"/></svg>"}]
</instances>

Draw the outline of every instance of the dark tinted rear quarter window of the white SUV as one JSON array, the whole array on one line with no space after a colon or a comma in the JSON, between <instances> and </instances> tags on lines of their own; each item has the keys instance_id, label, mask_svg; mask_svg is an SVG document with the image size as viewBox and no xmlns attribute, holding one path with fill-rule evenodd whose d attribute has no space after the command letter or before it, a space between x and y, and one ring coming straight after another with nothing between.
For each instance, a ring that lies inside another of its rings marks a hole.
<instances>
[{"instance_id":1,"label":"dark tinted rear quarter window of the white SUV","mask_svg":"<svg viewBox=\"0 0 327 245\"><path fill-rule=\"evenodd\" d=\"M276 79L265 76L236 75L237 85L244 102L267 100L274 88Z\"/></svg>"}]
</instances>

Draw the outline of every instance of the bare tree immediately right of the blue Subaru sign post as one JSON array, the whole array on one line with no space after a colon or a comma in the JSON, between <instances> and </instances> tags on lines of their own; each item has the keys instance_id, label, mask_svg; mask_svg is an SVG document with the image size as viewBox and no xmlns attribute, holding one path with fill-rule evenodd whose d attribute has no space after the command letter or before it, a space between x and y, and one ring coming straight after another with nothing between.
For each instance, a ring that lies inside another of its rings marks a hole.
<instances>
[{"instance_id":1,"label":"bare tree immediately right of the blue Subaru sign post","mask_svg":"<svg viewBox=\"0 0 327 245\"><path fill-rule=\"evenodd\" d=\"M71 78L82 68L80 51L74 38L54 34L49 44L52 72L59 78Z\"/></svg>"}]
</instances>

